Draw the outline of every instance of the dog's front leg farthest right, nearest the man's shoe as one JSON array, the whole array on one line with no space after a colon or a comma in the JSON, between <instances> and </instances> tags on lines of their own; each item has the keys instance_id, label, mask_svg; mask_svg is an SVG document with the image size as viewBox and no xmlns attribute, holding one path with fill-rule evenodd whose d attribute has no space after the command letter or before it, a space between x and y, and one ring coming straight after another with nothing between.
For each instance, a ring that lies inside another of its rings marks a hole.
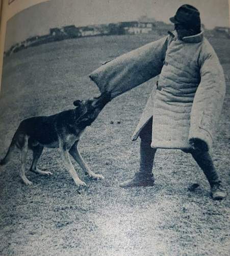
<instances>
[{"instance_id":1,"label":"dog's front leg farthest right, nearest the man's shoe","mask_svg":"<svg viewBox=\"0 0 230 256\"><path fill-rule=\"evenodd\" d=\"M89 175L90 178L93 179L104 179L103 175L100 174L95 174L90 170L89 166L87 163L84 161L82 158L81 154L78 151L78 141L76 141L72 147L69 150L70 155L74 158L74 160L81 166L81 168L84 170L84 172Z\"/></svg>"}]
</instances>

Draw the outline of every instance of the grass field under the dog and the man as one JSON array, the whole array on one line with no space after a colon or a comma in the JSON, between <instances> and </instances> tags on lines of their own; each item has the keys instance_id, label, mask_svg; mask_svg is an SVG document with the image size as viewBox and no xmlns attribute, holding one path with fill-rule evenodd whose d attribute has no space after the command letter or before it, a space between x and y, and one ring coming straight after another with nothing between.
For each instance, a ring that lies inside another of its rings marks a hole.
<instances>
[{"instance_id":1,"label":"grass field under the dog and the man","mask_svg":"<svg viewBox=\"0 0 230 256\"><path fill-rule=\"evenodd\" d=\"M0 99L0 156L20 120L73 108L98 93L87 78L102 61L157 39L154 35L71 39L29 48L4 61ZM230 44L211 38L227 81L227 95L213 145L213 159L229 193ZM139 141L130 140L154 86L150 80L111 101L87 129L80 151L103 181L78 193L57 150L44 150L43 177L19 178L20 159L1 167L0 255L229 255L230 202L213 201L190 155L159 150L151 188L121 189L138 170ZM111 122L113 121L113 122ZM31 161L28 159L27 169ZM189 191L192 183L199 183Z\"/></svg>"}]
</instances>

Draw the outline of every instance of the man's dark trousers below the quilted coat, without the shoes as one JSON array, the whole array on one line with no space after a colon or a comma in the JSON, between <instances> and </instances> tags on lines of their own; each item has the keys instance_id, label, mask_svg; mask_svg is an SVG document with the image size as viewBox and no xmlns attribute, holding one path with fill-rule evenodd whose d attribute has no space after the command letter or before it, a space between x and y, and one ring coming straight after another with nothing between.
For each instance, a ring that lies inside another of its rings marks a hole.
<instances>
[{"instance_id":1,"label":"man's dark trousers below the quilted coat, without the shoes","mask_svg":"<svg viewBox=\"0 0 230 256\"><path fill-rule=\"evenodd\" d=\"M139 174L149 176L152 174L152 167L154 165L154 158L157 148L151 147L152 138L152 118L146 123L140 132L140 168ZM220 178L213 164L213 160L209 152L203 152L199 148L191 150L192 157L195 159L203 173L207 177L210 186L220 183Z\"/></svg>"}]
</instances>

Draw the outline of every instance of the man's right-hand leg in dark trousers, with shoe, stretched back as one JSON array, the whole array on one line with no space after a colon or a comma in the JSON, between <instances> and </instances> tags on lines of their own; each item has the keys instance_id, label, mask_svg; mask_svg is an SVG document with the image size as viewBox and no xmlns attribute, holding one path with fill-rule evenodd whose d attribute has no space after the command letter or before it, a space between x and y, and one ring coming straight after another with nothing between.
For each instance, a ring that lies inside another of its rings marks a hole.
<instances>
[{"instance_id":1,"label":"man's right-hand leg in dark trousers, with shoe, stretched back","mask_svg":"<svg viewBox=\"0 0 230 256\"><path fill-rule=\"evenodd\" d=\"M196 148L191 154L209 181L212 198L214 200L224 199L226 194L209 152L203 152Z\"/></svg>"}]
</instances>

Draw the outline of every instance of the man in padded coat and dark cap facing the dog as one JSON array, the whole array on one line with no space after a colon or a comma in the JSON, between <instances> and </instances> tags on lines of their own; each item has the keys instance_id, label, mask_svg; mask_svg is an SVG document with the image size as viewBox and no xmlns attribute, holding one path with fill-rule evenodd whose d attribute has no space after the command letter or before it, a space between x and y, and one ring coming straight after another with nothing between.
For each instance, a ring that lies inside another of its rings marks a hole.
<instances>
[{"instance_id":1,"label":"man in padded coat and dark cap facing the dog","mask_svg":"<svg viewBox=\"0 0 230 256\"><path fill-rule=\"evenodd\" d=\"M153 186L157 148L177 148L192 154L209 181L212 198L221 200L226 195L209 150L225 95L223 71L203 37L195 7L181 6L170 20L173 33L90 75L101 91L115 97L160 74L157 92L150 95L133 135L133 140L141 139L139 172L120 186Z\"/></svg>"}]
</instances>

